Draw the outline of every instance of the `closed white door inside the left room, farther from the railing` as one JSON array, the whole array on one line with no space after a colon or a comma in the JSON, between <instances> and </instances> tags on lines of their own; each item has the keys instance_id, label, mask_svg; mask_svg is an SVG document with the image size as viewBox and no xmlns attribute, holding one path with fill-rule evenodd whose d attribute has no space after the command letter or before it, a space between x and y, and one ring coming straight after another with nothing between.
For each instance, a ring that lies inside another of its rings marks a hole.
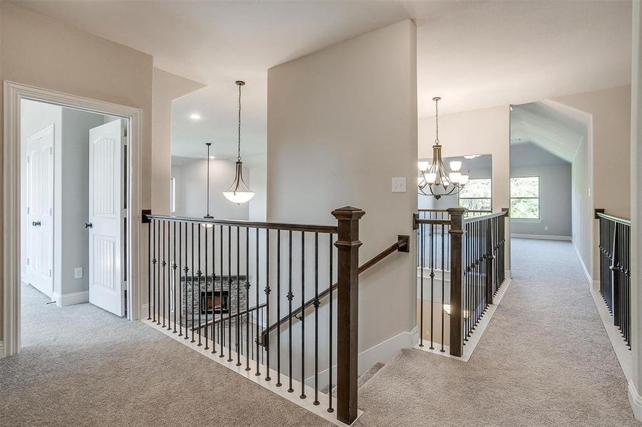
<instances>
[{"instance_id":1,"label":"closed white door inside the left room, farther from the railing","mask_svg":"<svg viewBox=\"0 0 642 427\"><path fill-rule=\"evenodd\" d=\"M27 139L27 280L53 295L53 124Z\"/></svg>"}]
</instances>

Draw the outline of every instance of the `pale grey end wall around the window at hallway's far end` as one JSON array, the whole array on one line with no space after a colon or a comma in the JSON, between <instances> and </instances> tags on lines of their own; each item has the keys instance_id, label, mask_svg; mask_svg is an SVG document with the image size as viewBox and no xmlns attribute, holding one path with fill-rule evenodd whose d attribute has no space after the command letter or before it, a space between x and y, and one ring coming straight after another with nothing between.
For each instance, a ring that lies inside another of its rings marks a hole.
<instances>
[{"instance_id":1,"label":"pale grey end wall around the window at hallway's far end","mask_svg":"<svg viewBox=\"0 0 642 427\"><path fill-rule=\"evenodd\" d=\"M511 167L510 176L539 176L539 220L511 218L511 233L570 238L571 165Z\"/></svg>"}]
</instances>

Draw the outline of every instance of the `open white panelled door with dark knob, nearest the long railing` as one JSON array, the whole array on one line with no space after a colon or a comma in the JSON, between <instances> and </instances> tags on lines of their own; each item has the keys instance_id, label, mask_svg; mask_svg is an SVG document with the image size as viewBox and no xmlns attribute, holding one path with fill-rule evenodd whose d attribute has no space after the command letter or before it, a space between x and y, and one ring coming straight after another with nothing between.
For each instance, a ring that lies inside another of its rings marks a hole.
<instances>
[{"instance_id":1,"label":"open white panelled door with dark knob, nearest the long railing","mask_svg":"<svg viewBox=\"0 0 642 427\"><path fill-rule=\"evenodd\" d=\"M123 120L89 130L89 302L125 315Z\"/></svg>"}]
</instances>

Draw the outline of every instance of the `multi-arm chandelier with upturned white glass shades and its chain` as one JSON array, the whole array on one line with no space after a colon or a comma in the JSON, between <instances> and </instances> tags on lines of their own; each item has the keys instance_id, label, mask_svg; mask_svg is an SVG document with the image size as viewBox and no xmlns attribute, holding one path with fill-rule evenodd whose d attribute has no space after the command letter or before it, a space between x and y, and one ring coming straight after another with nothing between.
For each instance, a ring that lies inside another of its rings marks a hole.
<instances>
[{"instance_id":1,"label":"multi-arm chandelier with upturned white glass shades and its chain","mask_svg":"<svg viewBox=\"0 0 642 427\"><path fill-rule=\"evenodd\" d=\"M423 196L434 196L440 199L441 196L452 196L462 191L468 182L468 174L462 174L462 162L450 162L450 168L446 167L441 157L441 145L439 143L439 101L440 97L434 97L435 101L435 145L433 145L433 162L418 162L421 176L418 177L418 191Z\"/></svg>"}]
</instances>

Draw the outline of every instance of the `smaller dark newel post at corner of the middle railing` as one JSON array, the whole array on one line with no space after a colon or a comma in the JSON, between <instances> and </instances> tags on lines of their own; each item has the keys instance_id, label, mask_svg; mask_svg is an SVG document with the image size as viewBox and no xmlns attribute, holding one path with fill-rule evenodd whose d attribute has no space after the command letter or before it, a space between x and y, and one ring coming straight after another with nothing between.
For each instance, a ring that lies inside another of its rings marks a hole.
<instances>
[{"instance_id":1,"label":"smaller dark newel post at corner of the middle railing","mask_svg":"<svg viewBox=\"0 0 642 427\"><path fill-rule=\"evenodd\" d=\"M467 209L462 206L448 208L450 214L450 355L461 357L464 347L462 316L462 236L463 217Z\"/></svg>"}]
</instances>

